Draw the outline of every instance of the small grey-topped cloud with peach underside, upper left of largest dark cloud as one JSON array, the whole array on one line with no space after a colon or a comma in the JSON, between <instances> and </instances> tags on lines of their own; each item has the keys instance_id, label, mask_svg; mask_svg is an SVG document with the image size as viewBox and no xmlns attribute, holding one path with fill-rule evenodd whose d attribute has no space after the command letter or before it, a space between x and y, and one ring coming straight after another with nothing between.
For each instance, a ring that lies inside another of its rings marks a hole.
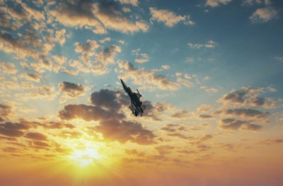
<instances>
[{"instance_id":1,"label":"small grey-topped cloud with peach underside, upper left of largest dark cloud","mask_svg":"<svg viewBox=\"0 0 283 186\"><path fill-rule=\"evenodd\" d=\"M66 96L64 98L77 98L84 95L85 88L82 84L69 83L67 81L58 84L59 90Z\"/></svg>"}]
</instances>

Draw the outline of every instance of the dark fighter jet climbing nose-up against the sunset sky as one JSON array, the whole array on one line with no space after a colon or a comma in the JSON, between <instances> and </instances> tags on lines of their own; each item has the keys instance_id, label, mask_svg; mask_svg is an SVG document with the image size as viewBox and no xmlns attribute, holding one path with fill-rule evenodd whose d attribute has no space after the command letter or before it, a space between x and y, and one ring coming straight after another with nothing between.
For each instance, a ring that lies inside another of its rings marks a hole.
<instances>
[{"instance_id":1,"label":"dark fighter jet climbing nose-up against the sunset sky","mask_svg":"<svg viewBox=\"0 0 283 186\"><path fill-rule=\"evenodd\" d=\"M129 109L132 110L132 113L137 117L137 115L141 115L144 113L144 109L146 108L145 105L142 105L141 100L141 94L139 93L139 90L137 90L137 93L134 93L131 88L126 86L124 81L121 80L122 86L125 90L125 92L129 95L129 98L131 98L131 105L129 106Z\"/></svg>"}]
</instances>

